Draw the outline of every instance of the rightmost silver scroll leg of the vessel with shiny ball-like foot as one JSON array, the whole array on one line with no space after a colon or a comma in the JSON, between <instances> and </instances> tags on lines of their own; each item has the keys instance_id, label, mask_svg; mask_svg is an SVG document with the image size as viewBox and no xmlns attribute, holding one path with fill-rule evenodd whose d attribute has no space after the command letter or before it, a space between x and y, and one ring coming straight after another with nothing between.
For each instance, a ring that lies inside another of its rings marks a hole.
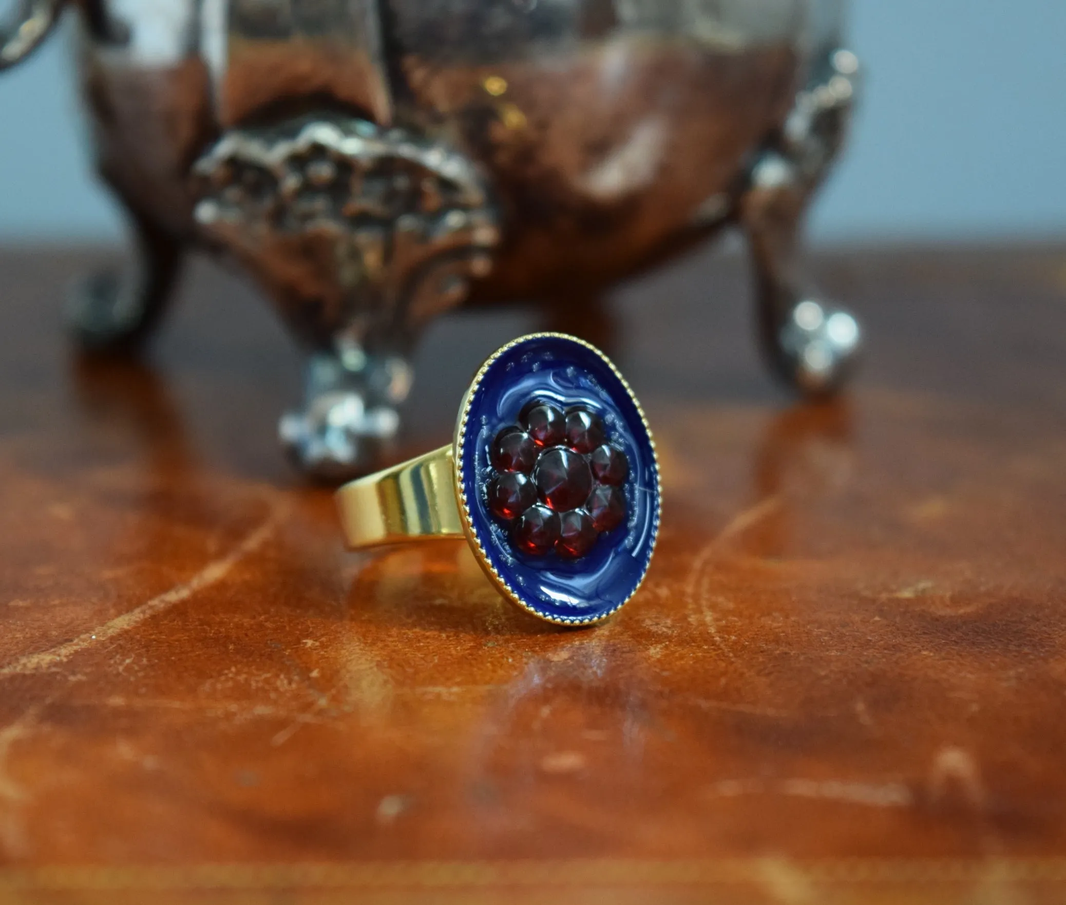
<instances>
[{"instance_id":1,"label":"rightmost silver scroll leg of the vessel with shiny ball-like foot","mask_svg":"<svg viewBox=\"0 0 1066 905\"><path fill-rule=\"evenodd\" d=\"M835 50L800 93L782 133L756 159L740 199L755 266L759 335L776 374L797 389L833 392L847 379L861 334L845 309L807 288L804 214L846 131L858 63Z\"/></svg>"}]
</instances>

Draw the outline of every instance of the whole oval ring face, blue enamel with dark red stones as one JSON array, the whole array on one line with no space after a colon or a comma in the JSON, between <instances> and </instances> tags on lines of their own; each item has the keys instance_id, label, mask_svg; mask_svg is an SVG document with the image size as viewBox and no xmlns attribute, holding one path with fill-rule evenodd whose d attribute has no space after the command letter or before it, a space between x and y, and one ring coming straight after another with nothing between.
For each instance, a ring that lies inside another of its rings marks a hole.
<instances>
[{"instance_id":1,"label":"whole oval ring face, blue enamel with dark red stones","mask_svg":"<svg viewBox=\"0 0 1066 905\"><path fill-rule=\"evenodd\" d=\"M533 334L492 355L463 402L454 456L471 548L515 603L587 625L640 587L659 465L636 398L597 349Z\"/></svg>"}]
</instances>

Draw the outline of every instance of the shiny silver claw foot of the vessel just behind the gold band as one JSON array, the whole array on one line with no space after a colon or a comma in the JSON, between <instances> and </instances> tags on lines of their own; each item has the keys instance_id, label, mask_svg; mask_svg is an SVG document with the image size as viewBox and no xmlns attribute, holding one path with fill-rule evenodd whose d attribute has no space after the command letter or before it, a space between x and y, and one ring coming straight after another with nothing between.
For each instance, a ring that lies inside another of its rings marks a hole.
<instances>
[{"instance_id":1,"label":"shiny silver claw foot of the vessel just behind the gold band","mask_svg":"<svg viewBox=\"0 0 1066 905\"><path fill-rule=\"evenodd\" d=\"M306 398L278 423L290 460L305 474L337 483L381 464L400 430L398 406L411 370L399 355L319 354L307 369Z\"/></svg>"}]
</instances>

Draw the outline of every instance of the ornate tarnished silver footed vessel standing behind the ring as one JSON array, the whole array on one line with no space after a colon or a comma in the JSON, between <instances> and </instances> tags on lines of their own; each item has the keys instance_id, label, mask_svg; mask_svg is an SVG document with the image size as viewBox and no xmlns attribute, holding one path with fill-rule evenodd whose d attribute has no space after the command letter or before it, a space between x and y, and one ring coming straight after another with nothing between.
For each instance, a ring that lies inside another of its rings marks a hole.
<instances>
[{"instance_id":1,"label":"ornate tarnished silver footed vessel standing behind the ring","mask_svg":"<svg viewBox=\"0 0 1066 905\"><path fill-rule=\"evenodd\" d=\"M63 0L16 2L0 68ZM859 344L805 285L808 200L858 65L841 0L70 0L103 178L139 266L69 319L134 349L187 251L239 262L308 355L280 436L307 472L375 467L431 318L603 287L730 224L786 382L838 388Z\"/></svg>"}]
</instances>

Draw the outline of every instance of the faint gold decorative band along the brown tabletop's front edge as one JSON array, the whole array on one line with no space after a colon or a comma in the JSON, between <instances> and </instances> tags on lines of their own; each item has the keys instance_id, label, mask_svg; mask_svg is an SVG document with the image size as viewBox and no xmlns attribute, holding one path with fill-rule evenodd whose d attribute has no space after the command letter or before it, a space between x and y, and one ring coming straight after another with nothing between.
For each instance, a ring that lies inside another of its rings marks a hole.
<instances>
[{"instance_id":1,"label":"faint gold decorative band along the brown tabletop's front edge","mask_svg":"<svg viewBox=\"0 0 1066 905\"><path fill-rule=\"evenodd\" d=\"M789 858L425 860L0 868L0 894L27 891L256 891L696 886L792 880L812 887L1066 886L1066 858ZM933 890L930 890L933 891ZM20 900L19 900L20 901ZM906 901L915 901L912 899ZM919 901L931 901L922 898ZM939 901L939 900L938 900ZM969 901L969 900L968 900Z\"/></svg>"}]
</instances>

